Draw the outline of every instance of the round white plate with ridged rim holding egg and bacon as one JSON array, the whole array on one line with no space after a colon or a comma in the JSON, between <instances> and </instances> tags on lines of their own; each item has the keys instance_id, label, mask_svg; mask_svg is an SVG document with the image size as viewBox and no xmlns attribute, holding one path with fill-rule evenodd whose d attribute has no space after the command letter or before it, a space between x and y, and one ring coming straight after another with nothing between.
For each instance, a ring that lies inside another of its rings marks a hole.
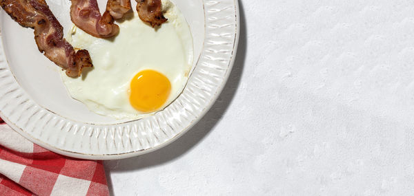
<instances>
[{"instance_id":1,"label":"round white plate with ridged rim holding egg and bacon","mask_svg":"<svg viewBox=\"0 0 414 196\"><path fill-rule=\"evenodd\" d=\"M47 2L68 32L70 1ZM103 10L106 1L98 2ZM99 116L70 98L59 67L37 50L33 31L1 10L0 117L50 151L92 160L141 155L179 138L208 111L226 83L239 39L239 8L237 0L172 2L193 33L193 73L183 93L166 109L130 122Z\"/></svg>"}]
</instances>

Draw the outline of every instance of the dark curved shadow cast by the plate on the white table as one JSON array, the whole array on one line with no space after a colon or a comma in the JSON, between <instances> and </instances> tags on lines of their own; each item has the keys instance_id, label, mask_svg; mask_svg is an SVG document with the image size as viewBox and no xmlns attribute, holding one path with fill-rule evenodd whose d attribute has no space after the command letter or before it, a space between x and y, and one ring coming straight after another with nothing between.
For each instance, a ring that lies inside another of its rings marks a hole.
<instances>
[{"instance_id":1,"label":"dark curved shadow cast by the plate on the white table","mask_svg":"<svg viewBox=\"0 0 414 196\"><path fill-rule=\"evenodd\" d=\"M247 47L247 32L246 32L246 19L244 15L244 9L242 1L239 1L240 9L240 35L239 46L237 49L237 56L235 65L230 73L230 77L221 92L219 98L213 105L213 107L201 118L201 120L195 124L195 126L184 134L177 141L172 142L168 146L138 157L132 157L126 160L113 161L116 162L114 168L110 168L110 171L128 172L135 171L148 166L156 166L159 164L166 164L172 160L177 159L181 155L186 154L190 149L196 146L208 133L215 127L217 122L221 119L221 116L226 112L228 106L235 97L236 91L239 87L240 78L242 77L244 69L244 61L246 58ZM111 161L110 161L111 162ZM110 164L110 163L109 163ZM107 171L108 186L112 190L112 184L110 179L110 171ZM113 195L113 194L112 194Z\"/></svg>"}]
</instances>

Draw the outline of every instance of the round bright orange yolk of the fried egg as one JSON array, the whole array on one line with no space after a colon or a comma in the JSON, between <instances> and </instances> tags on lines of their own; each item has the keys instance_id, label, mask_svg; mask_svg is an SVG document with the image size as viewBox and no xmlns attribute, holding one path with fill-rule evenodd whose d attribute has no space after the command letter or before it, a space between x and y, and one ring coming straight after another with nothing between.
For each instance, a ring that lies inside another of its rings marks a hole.
<instances>
[{"instance_id":1,"label":"round bright orange yolk of the fried egg","mask_svg":"<svg viewBox=\"0 0 414 196\"><path fill-rule=\"evenodd\" d=\"M171 92L170 80L154 70L144 70L132 78L130 84L130 104L142 112L159 109Z\"/></svg>"}]
</instances>

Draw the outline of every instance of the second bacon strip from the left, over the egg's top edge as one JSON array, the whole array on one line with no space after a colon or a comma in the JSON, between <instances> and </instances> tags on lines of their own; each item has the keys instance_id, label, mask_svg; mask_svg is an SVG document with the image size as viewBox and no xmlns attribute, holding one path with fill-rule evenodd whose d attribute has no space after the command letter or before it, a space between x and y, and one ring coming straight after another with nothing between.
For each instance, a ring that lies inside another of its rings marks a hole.
<instances>
[{"instance_id":1,"label":"second bacon strip from the left, over the egg's top edge","mask_svg":"<svg viewBox=\"0 0 414 196\"><path fill-rule=\"evenodd\" d=\"M70 19L78 28L99 38L108 38L118 34L119 26L114 24L109 11L101 16L97 0L71 1Z\"/></svg>"}]
</instances>

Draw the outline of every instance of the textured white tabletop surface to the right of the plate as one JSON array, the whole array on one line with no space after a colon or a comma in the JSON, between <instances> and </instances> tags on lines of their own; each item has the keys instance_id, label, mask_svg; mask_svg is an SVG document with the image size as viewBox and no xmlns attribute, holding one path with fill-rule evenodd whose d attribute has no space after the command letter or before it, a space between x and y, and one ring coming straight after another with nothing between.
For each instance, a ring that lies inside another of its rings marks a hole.
<instances>
[{"instance_id":1,"label":"textured white tabletop surface to the right of the plate","mask_svg":"<svg viewBox=\"0 0 414 196\"><path fill-rule=\"evenodd\" d=\"M414 1L241 0L237 61L182 138L106 162L114 195L413 195Z\"/></svg>"}]
</instances>

